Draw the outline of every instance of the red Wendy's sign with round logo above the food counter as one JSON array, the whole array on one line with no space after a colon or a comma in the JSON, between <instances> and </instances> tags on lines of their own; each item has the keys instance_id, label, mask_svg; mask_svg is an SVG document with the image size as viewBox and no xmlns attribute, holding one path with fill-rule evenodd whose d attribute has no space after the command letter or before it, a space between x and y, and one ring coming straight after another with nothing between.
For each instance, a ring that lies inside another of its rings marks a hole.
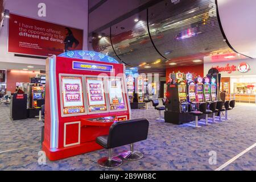
<instances>
[{"instance_id":1,"label":"red Wendy's sign with round logo above the food counter","mask_svg":"<svg viewBox=\"0 0 256 182\"><path fill-rule=\"evenodd\" d=\"M239 71L241 73L246 73L250 70L250 66L249 64L243 62L240 63L238 66L237 65L230 65L230 64L226 64L225 67L219 67L218 65L216 67L212 67L212 68L216 68L218 69L219 72L227 72L227 73L232 73L232 72L236 72Z\"/></svg>"}]
</instances>

